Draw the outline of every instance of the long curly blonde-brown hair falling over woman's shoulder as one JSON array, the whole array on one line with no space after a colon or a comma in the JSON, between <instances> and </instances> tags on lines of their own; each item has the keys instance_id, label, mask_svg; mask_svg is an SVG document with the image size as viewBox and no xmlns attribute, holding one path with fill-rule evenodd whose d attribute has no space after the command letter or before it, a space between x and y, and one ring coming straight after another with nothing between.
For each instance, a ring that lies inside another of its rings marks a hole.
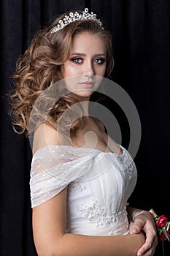
<instances>
[{"instance_id":1,"label":"long curly blonde-brown hair falling over woman's shoulder","mask_svg":"<svg viewBox=\"0 0 170 256\"><path fill-rule=\"evenodd\" d=\"M41 96L42 92L63 79L63 63L69 59L70 49L76 34L89 31L104 40L107 49L107 69L104 77L109 78L112 72L114 63L112 35L106 29L101 28L95 20L76 20L66 25L63 29L51 33L58 21L68 14L69 12L60 15L50 26L37 31L31 41L31 45L17 61L16 71L12 75L15 90L11 92L9 105L12 126L15 132L19 134L25 132L28 135L29 129L34 131L40 122L47 122L54 127L60 121L62 113L77 102L77 99L72 94L66 93L64 85L61 84L58 86L58 91L60 90L60 94L63 94L63 97L53 102L53 106L49 105L48 114L45 115L43 111L34 111L34 115L31 115L36 100L39 97L43 98ZM49 95L49 99L50 97L51 95ZM29 127L30 121L31 128ZM82 118L78 118L72 124L70 132L75 135L82 127Z\"/></svg>"}]
</instances>

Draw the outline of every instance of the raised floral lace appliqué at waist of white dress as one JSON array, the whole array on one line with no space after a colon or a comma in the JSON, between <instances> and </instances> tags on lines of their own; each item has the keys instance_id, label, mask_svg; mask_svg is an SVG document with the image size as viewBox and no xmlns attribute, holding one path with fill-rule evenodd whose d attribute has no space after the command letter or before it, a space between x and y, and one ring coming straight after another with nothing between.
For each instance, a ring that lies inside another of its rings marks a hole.
<instances>
[{"instance_id":1,"label":"raised floral lace appliqu\u00e9 at waist of white dress","mask_svg":"<svg viewBox=\"0 0 170 256\"><path fill-rule=\"evenodd\" d=\"M92 206L81 204L77 206L78 211L82 211L85 217L87 217L90 222L96 224L96 227L100 225L110 225L112 222L118 222L119 216L124 215L125 221L127 219L126 206L117 211L112 211L112 213L107 214L107 209L105 206L101 206L97 200L93 200ZM128 219L127 219L128 221Z\"/></svg>"}]
</instances>

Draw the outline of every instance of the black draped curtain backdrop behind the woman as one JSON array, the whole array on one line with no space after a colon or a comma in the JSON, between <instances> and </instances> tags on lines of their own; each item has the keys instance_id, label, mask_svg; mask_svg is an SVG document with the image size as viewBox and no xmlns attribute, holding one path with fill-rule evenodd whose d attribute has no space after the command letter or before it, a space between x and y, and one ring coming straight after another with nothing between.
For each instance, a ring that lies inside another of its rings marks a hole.
<instances>
[{"instance_id":1,"label":"black draped curtain backdrop behind the woman","mask_svg":"<svg viewBox=\"0 0 170 256\"><path fill-rule=\"evenodd\" d=\"M169 0L1 0L1 256L36 256L29 195L31 147L28 139L12 130L6 96L13 89L10 76L37 29L62 12L85 7L112 31L112 80L128 92L141 118L142 140L134 159L139 176L130 203L154 208L170 219ZM112 102L109 108L114 113ZM127 146L128 126L122 130L123 146ZM169 244L165 242L166 255L170 255ZM155 255L162 255L161 244Z\"/></svg>"}]
</instances>

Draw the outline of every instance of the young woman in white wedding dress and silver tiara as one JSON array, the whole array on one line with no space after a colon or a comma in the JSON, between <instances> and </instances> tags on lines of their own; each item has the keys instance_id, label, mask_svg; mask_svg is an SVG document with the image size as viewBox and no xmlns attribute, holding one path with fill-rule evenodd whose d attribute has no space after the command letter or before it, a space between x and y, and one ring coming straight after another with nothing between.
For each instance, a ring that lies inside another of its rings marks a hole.
<instances>
[{"instance_id":1,"label":"young woman in white wedding dress and silver tiara","mask_svg":"<svg viewBox=\"0 0 170 256\"><path fill-rule=\"evenodd\" d=\"M12 116L20 133L34 134L30 186L38 255L155 252L150 213L128 206L134 162L88 112L112 67L111 34L87 9L39 31L18 60Z\"/></svg>"}]
</instances>

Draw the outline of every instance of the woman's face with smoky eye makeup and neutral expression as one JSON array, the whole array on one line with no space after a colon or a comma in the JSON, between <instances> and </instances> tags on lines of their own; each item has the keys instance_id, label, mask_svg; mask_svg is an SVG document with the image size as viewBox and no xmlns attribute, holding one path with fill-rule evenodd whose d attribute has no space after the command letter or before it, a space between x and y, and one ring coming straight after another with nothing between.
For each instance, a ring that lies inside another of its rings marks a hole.
<instances>
[{"instance_id":1,"label":"woman's face with smoky eye makeup and neutral expression","mask_svg":"<svg viewBox=\"0 0 170 256\"><path fill-rule=\"evenodd\" d=\"M104 41L97 34L77 34L69 59L63 64L66 88L79 97L90 97L104 77L106 56Z\"/></svg>"}]
</instances>

